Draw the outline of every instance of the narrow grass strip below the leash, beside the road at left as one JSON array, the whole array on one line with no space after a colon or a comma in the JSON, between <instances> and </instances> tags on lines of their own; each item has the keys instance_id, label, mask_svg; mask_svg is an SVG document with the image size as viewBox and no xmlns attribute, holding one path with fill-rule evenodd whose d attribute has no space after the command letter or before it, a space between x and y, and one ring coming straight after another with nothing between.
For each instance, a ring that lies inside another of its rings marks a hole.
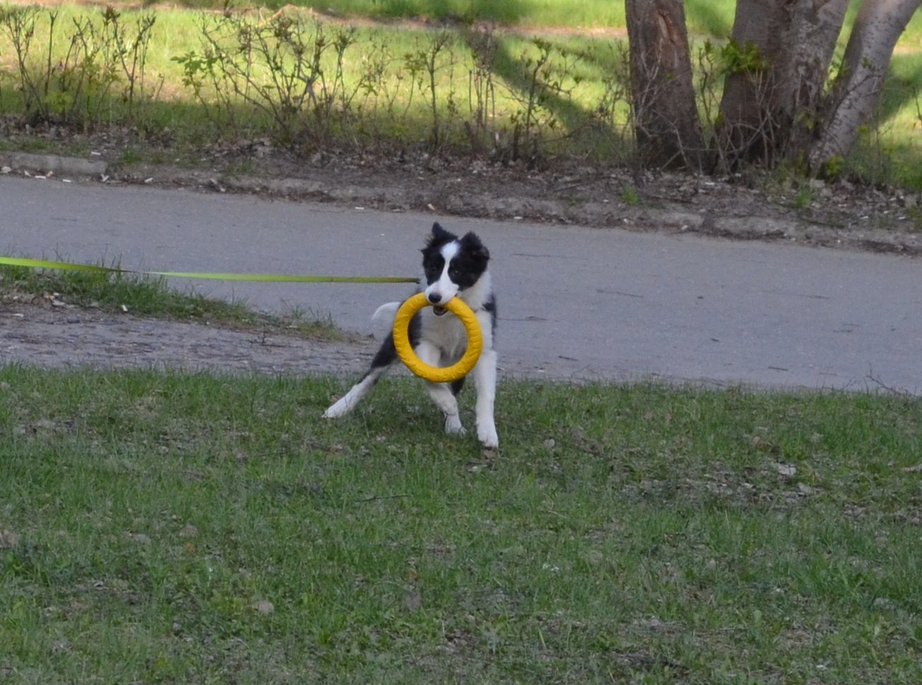
<instances>
[{"instance_id":1,"label":"narrow grass strip below the leash, beside the road at left","mask_svg":"<svg viewBox=\"0 0 922 685\"><path fill-rule=\"evenodd\" d=\"M243 300L215 300L195 289L172 288L163 277L0 265L0 303L34 298L98 308L102 312L127 312L244 328L284 329L309 337L341 337L328 317L324 319L296 310L282 316L261 313Z\"/></svg>"}]
</instances>

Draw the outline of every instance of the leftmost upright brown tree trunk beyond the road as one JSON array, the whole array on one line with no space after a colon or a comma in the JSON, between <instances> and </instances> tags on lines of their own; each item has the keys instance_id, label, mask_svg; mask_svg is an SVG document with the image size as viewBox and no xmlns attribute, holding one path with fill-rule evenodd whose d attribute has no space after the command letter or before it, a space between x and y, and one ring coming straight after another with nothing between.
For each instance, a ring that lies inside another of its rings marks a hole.
<instances>
[{"instance_id":1,"label":"leftmost upright brown tree trunk beyond the road","mask_svg":"<svg viewBox=\"0 0 922 685\"><path fill-rule=\"evenodd\" d=\"M644 165L699 171L704 142L681 0L625 0L634 136Z\"/></svg>"}]
</instances>

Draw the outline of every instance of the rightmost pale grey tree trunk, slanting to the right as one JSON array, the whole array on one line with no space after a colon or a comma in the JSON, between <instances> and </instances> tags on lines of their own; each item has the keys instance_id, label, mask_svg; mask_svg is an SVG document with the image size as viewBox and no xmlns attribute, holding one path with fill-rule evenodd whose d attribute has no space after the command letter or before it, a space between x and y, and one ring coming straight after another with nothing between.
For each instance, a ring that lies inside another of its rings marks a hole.
<instances>
[{"instance_id":1,"label":"rightmost pale grey tree trunk, slanting to the right","mask_svg":"<svg viewBox=\"0 0 922 685\"><path fill-rule=\"evenodd\" d=\"M880 98L896 41L922 0L866 0L858 10L845 47L842 67L823 107L822 134L810 150L810 166L819 169L845 157L857 141Z\"/></svg>"}]
</instances>

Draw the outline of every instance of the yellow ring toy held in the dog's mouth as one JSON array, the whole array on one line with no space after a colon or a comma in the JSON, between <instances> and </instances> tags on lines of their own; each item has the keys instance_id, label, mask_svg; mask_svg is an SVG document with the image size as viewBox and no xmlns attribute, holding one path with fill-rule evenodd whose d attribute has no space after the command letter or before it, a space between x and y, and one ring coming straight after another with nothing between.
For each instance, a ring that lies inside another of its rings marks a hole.
<instances>
[{"instance_id":1,"label":"yellow ring toy held in the dog's mouth","mask_svg":"<svg viewBox=\"0 0 922 685\"><path fill-rule=\"evenodd\" d=\"M460 298L453 297L445 305L445 309L455 314L461 323L464 324L467 331L467 350L460 360L451 366L432 366L425 361L420 360L409 344L409 320L413 314L417 313L423 307L430 307L431 304L426 300L424 293L418 292L400 305L397 315L394 319L394 347L397 350L400 360L407 368L432 383L451 383L467 375L474 364L480 357L480 350L483 348L483 334L480 332L480 324L477 316L471 311L467 304Z\"/></svg>"}]
</instances>

